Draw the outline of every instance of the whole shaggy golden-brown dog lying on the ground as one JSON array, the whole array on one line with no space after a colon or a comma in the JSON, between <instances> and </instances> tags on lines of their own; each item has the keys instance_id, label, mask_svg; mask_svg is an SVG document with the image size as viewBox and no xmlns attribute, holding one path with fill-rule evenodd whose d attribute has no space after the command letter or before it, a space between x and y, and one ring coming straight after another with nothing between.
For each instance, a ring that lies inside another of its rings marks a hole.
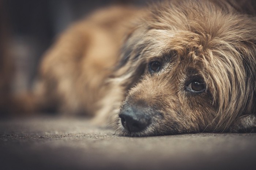
<instances>
[{"instance_id":1,"label":"whole shaggy golden-brown dog lying on the ground","mask_svg":"<svg viewBox=\"0 0 256 170\"><path fill-rule=\"evenodd\" d=\"M33 109L94 115L126 136L255 130L253 1L110 7L44 56Z\"/></svg>"}]
</instances>

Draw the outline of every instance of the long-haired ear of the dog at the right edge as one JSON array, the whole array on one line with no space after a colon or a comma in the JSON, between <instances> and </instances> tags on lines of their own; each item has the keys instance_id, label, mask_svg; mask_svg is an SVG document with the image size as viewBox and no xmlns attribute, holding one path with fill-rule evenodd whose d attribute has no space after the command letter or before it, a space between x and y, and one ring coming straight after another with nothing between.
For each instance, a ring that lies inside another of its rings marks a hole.
<instances>
[{"instance_id":1,"label":"long-haired ear of the dog at the right edge","mask_svg":"<svg viewBox=\"0 0 256 170\"><path fill-rule=\"evenodd\" d=\"M250 31L246 30L240 41L238 41L239 37L234 38L239 43L233 43L232 46L229 46L230 51L227 50L227 55L222 56L222 59L224 57L227 61L230 61L230 64L225 62L225 65L223 65L227 76L218 78L219 76L217 75L215 76L217 78L215 78L215 81L221 80L223 82L219 84L229 85L218 87L219 111L217 117L219 117L220 121L216 126L217 128L223 128L223 124L226 124L226 127L230 127L234 120L240 116L256 114L255 32L251 31L251 29ZM218 83L215 84L218 85Z\"/></svg>"}]
</instances>

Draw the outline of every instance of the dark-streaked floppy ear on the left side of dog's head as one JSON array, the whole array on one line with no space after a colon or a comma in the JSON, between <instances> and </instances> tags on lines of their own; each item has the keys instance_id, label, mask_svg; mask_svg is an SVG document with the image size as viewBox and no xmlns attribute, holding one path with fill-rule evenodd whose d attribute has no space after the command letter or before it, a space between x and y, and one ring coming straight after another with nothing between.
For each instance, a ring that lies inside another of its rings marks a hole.
<instances>
[{"instance_id":1,"label":"dark-streaked floppy ear on the left side of dog's head","mask_svg":"<svg viewBox=\"0 0 256 170\"><path fill-rule=\"evenodd\" d=\"M146 60L142 57L145 44L142 30L145 29L135 29L128 35L120 51L120 60L111 75L112 80L118 81L126 90L137 83L145 72Z\"/></svg>"}]
</instances>

